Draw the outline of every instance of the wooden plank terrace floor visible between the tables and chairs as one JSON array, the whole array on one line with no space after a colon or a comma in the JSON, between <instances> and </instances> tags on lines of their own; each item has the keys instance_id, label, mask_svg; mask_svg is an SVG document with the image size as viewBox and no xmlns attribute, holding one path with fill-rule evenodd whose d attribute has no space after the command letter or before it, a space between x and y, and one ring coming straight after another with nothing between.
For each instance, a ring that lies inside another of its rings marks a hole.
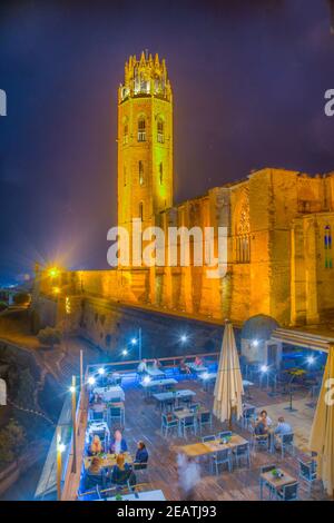
<instances>
[{"instance_id":1,"label":"wooden plank terrace floor visible between the tables and chairs","mask_svg":"<svg viewBox=\"0 0 334 523\"><path fill-rule=\"evenodd\" d=\"M177 388L191 388L196 392L195 401L199 401L208 408L213 405L213 393L204 392L200 384L195 381L184 381L177 385ZM252 403L256 406L277 404L282 402L277 398L269 398L267 393L254 389ZM276 415L275 412L275 415ZM271 415L271 411L268 409ZM282 413L283 414L283 413ZM276 416L273 416L274 418ZM226 426L214 421L214 431L217 433ZM234 432L244 435L249 440L249 433L243 431L238 425L233 427ZM210 434L210 428L203 434ZM179 501L180 489L178 486L177 472L177 452L179 445L195 443L199 436L189 434L187 441L177 436L167 438L160 433L160 412L156 407L153 398L145 398L143 391L136 387L126 387L126 428L124 436L127 440L130 452L135 453L136 442L143 440L146 442L149 452L149 470L146 474L151 489L163 490L168 501ZM276 463L286 470L294 477L298 476L297 458L307 456L301 451L296 451L295 456L287 454L284 460L277 452L275 455L264 451L252 453L252 466L234 468L232 473L223 471L218 476L209 473L205 461L200 461L202 480L196 487L194 500L196 501L252 501L259 500L259 467L265 464ZM307 485L301 482L299 497L302 500L328 500L320 482L313 486L311 496L307 492Z\"/></svg>"}]
</instances>

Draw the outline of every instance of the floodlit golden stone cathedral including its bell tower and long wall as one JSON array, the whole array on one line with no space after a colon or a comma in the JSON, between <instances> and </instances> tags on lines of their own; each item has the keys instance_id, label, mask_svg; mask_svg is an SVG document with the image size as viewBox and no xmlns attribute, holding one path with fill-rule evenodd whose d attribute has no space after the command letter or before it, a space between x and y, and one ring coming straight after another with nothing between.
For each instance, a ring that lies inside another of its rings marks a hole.
<instances>
[{"instance_id":1,"label":"floodlit golden stone cathedral including its bell tower and long wall","mask_svg":"<svg viewBox=\"0 0 334 523\"><path fill-rule=\"evenodd\" d=\"M177 122L176 122L177 124ZM334 310L334 172L253 171L174 205L173 92L165 60L141 53L118 90L118 225L225 227L227 270L132 266L67 273L73 294L236 324L265 314L281 325L317 324ZM131 250L134 246L131 246ZM48 283L45 278L45 289Z\"/></svg>"}]
</instances>

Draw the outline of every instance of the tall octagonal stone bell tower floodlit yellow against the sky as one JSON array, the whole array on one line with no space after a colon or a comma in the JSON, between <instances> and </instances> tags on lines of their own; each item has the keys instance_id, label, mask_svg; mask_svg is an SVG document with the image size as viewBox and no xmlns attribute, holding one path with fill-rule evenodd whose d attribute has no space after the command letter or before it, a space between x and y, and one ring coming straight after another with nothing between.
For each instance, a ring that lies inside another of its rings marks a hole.
<instances>
[{"instance_id":1,"label":"tall octagonal stone bell tower floodlit yellow against the sky","mask_svg":"<svg viewBox=\"0 0 334 523\"><path fill-rule=\"evenodd\" d=\"M129 57L118 90L118 225L173 206L173 96L165 60Z\"/></svg>"}]
</instances>

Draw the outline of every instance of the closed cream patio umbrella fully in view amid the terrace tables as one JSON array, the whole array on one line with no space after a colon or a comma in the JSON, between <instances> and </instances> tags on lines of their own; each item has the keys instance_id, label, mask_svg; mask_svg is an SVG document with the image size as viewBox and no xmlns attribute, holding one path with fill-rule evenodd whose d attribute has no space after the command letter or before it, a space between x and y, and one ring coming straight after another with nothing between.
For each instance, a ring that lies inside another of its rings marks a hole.
<instances>
[{"instance_id":1,"label":"closed cream patio umbrella fully in view amid the terrace tables","mask_svg":"<svg viewBox=\"0 0 334 523\"><path fill-rule=\"evenodd\" d=\"M230 422L234 412L239 418L243 414L243 377L234 330L232 323L226 322L214 392L214 415L220 422Z\"/></svg>"}]
</instances>

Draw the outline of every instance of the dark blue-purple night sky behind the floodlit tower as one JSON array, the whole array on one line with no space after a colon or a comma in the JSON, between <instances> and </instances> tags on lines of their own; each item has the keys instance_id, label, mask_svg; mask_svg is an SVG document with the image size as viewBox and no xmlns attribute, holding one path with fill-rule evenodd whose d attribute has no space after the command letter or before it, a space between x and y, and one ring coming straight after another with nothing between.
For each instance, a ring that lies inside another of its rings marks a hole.
<instances>
[{"instance_id":1,"label":"dark blue-purple night sky behind the floodlit tower","mask_svg":"<svg viewBox=\"0 0 334 523\"><path fill-rule=\"evenodd\" d=\"M107 267L117 87L145 48L173 82L176 203L265 166L334 169L326 0L1 2L0 282L60 255Z\"/></svg>"}]
</instances>

